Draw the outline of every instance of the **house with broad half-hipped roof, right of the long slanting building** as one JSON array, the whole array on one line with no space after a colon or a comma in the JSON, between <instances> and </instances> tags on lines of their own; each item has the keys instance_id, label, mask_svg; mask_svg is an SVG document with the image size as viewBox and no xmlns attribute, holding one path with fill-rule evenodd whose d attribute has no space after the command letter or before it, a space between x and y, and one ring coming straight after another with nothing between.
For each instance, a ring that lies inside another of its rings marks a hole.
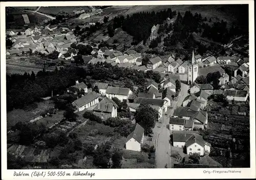
<instances>
[{"instance_id":1,"label":"house with broad half-hipped roof, right of the long slanting building","mask_svg":"<svg viewBox=\"0 0 256 180\"><path fill-rule=\"evenodd\" d=\"M104 97L93 109L93 114L106 120L110 117L117 117L117 108L117 104L112 99Z\"/></svg>"}]
</instances>

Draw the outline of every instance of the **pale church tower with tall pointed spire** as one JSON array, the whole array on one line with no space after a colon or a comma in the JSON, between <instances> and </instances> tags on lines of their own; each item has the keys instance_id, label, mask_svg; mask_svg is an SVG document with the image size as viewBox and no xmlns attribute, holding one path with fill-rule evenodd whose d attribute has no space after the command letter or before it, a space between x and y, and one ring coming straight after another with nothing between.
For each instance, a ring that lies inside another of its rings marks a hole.
<instances>
[{"instance_id":1,"label":"pale church tower with tall pointed spire","mask_svg":"<svg viewBox=\"0 0 256 180\"><path fill-rule=\"evenodd\" d=\"M198 64L196 64L195 61L195 54L194 54L194 50L192 53L192 58L190 63L187 64L187 83L188 85L191 85L195 82L195 80L197 79L198 76Z\"/></svg>"}]
</instances>

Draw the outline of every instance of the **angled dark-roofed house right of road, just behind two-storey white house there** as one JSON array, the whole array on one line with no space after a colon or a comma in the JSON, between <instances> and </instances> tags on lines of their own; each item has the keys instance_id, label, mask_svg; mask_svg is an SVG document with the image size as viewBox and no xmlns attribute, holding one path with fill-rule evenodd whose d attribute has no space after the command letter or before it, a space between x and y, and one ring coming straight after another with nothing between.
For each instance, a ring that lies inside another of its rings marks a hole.
<instances>
[{"instance_id":1,"label":"angled dark-roofed house right of road, just behind two-storey white house there","mask_svg":"<svg viewBox=\"0 0 256 180\"><path fill-rule=\"evenodd\" d=\"M195 127L204 129L204 127L207 127L208 122L207 112L194 111L193 109L194 107L177 107L177 109L174 110L174 117L193 120Z\"/></svg>"}]
</instances>

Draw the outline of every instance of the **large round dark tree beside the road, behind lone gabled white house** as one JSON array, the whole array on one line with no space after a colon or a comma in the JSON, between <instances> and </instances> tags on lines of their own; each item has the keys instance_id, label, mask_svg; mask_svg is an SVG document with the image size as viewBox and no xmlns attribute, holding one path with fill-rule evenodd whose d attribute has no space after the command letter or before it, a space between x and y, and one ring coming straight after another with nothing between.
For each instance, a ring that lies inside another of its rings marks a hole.
<instances>
[{"instance_id":1,"label":"large round dark tree beside the road, behind lone gabled white house","mask_svg":"<svg viewBox=\"0 0 256 180\"><path fill-rule=\"evenodd\" d=\"M141 104L136 110L135 114L136 122L144 128L144 134L151 135L152 128L155 127L158 120L158 112L149 105Z\"/></svg>"}]
</instances>

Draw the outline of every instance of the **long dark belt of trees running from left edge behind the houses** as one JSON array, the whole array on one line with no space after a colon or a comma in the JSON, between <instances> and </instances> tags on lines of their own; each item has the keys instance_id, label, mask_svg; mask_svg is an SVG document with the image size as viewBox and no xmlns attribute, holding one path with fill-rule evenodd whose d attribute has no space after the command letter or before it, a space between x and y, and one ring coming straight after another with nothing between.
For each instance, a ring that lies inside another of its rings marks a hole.
<instances>
[{"instance_id":1,"label":"long dark belt of trees running from left edge behind the houses","mask_svg":"<svg viewBox=\"0 0 256 180\"><path fill-rule=\"evenodd\" d=\"M161 75L154 71L145 73L129 68L113 67L109 63L88 64L84 68L67 67L59 70L56 68L52 72L43 69L36 75L34 72L7 75L7 110L24 108L39 100L40 97L51 96L52 91L54 95L63 94L68 87L75 85L75 80L84 81L87 84L90 84L91 79L110 82L120 80L143 86L146 78L152 78L159 83Z\"/></svg>"}]
</instances>

